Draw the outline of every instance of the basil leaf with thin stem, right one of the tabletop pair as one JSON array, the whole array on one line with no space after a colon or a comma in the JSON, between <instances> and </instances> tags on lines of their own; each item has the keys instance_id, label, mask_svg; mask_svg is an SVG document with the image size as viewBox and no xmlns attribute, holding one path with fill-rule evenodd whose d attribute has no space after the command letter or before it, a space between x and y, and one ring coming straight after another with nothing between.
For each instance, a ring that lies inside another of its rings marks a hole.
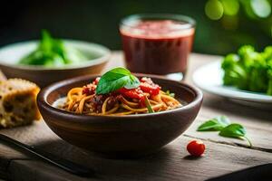
<instances>
[{"instance_id":1,"label":"basil leaf with thin stem, right one of the tabletop pair","mask_svg":"<svg viewBox=\"0 0 272 181\"><path fill-rule=\"evenodd\" d=\"M248 140L249 147L252 147L250 140L246 137L246 129L240 124L232 123L228 125L220 130L219 135L228 138L245 138Z\"/></svg>"}]
</instances>

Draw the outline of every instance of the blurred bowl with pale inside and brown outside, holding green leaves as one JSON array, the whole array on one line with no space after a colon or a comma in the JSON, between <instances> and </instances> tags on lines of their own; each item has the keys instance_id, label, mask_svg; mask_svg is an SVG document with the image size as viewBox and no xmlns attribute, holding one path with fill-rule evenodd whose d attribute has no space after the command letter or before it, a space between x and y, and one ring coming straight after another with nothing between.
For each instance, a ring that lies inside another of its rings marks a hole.
<instances>
[{"instance_id":1,"label":"blurred bowl with pale inside and brown outside, holding green leaves","mask_svg":"<svg viewBox=\"0 0 272 181\"><path fill-rule=\"evenodd\" d=\"M34 51L37 43L37 41L14 43L0 49L0 69L7 78L22 78L45 87L55 81L101 73L111 55L110 50L100 44L64 40L65 45L73 46L83 52L88 57L88 61L79 65L67 64L57 68L18 64L25 55Z\"/></svg>"}]
</instances>

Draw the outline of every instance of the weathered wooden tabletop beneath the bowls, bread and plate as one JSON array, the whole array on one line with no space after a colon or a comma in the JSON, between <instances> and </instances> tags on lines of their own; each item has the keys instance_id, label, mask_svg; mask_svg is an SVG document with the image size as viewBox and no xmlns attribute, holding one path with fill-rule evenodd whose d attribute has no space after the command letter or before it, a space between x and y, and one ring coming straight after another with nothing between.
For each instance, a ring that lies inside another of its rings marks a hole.
<instances>
[{"instance_id":1,"label":"weathered wooden tabletop beneath the bowls, bread and plate","mask_svg":"<svg viewBox=\"0 0 272 181\"><path fill-rule=\"evenodd\" d=\"M220 60L218 56L192 53L186 81L191 82L192 71L202 64ZM104 71L123 66L121 52L112 54L112 61ZM247 142L233 138L221 138L216 132L197 132L206 119L226 115L243 124L248 130ZM44 123L0 132L26 144L42 148L57 156L94 169L98 177L73 176L20 150L0 143L0 178L11 180L205 180L242 168L272 162L272 111L257 110L231 101L204 94L203 106L194 123L180 138L175 139L160 152L140 159L108 159L95 157L81 148L73 147L58 138ZM191 158L186 146L193 138L206 144L203 157Z\"/></svg>"}]
</instances>

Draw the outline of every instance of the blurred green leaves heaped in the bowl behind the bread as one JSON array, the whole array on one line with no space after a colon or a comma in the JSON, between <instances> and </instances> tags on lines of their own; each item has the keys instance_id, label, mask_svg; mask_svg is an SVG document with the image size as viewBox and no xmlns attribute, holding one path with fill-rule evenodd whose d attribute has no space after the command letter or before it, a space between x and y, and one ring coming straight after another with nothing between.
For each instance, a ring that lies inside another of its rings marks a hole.
<instances>
[{"instance_id":1,"label":"blurred green leaves heaped in the bowl behind the bread","mask_svg":"<svg viewBox=\"0 0 272 181\"><path fill-rule=\"evenodd\" d=\"M42 38L37 48L26 55L19 64L61 67L65 64L79 64L87 60L82 52L65 45L62 40L54 39L47 31L42 31Z\"/></svg>"}]
</instances>

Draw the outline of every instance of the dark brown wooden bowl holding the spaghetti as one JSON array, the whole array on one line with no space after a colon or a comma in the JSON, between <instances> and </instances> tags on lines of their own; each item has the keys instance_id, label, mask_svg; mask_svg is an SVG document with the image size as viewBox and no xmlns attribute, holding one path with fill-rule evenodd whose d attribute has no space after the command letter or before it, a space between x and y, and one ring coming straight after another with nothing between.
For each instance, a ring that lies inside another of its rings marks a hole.
<instances>
[{"instance_id":1,"label":"dark brown wooden bowl holding the spaghetti","mask_svg":"<svg viewBox=\"0 0 272 181\"><path fill-rule=\"evenodd\" d=\"M53 102L64 97L68 90L90 83L95 77L97 75L54 83L41 90L37 98L39 110L49 128L80 148L114 157L147 155L178 138L199 113L203 98L199 89L150 75L162 90L174 92L178 100L188 104L175 110L128 116L89 116L53 108Z\"/></svg>"}]
</instances>

